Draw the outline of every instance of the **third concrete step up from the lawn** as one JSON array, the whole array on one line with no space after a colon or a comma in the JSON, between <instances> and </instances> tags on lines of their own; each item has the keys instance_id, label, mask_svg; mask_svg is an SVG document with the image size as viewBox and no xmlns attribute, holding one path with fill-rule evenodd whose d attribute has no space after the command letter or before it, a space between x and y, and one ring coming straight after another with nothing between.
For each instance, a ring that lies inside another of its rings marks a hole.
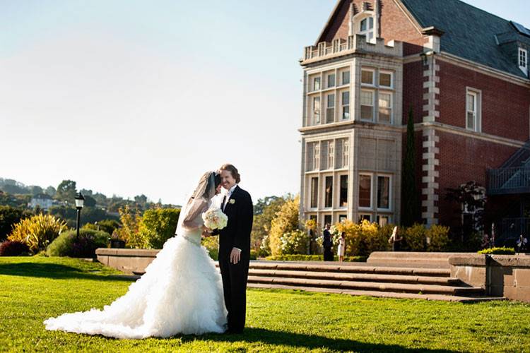
<instances>
[{"instance_id":1,"label":"third concrete step up from the lawn","mask_svg":"<svg viewBox=\"0 0 530 353\"><path fill-rule=\"evenodd\" d=\"M333 273L309 272L295 270L269 270L250 268L249 275L262 277L291 277L309 278L313 280L348 280L367 282L394 282L394 283L423 283L428 285L461 285L461 281L453 277L433 277L416 275L387 275L380 273Z\"/></svg>"}]
</instances>

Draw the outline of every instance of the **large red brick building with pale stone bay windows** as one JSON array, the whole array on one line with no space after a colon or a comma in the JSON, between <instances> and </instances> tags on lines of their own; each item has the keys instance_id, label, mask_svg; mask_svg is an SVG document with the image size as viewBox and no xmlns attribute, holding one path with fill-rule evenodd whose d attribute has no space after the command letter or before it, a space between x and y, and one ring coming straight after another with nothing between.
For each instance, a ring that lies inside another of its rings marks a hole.
<instances>
[{"instance_id":1,"label":"large red brick building with pale stone bay windows","mask_svg":"<svg viewBox=\"0 0 530 353\"><path fill-rule=\"evenodd\" d=\"M485 186L488 205L502 205L495 222L522 217L529 50L530 30L462 1L339 0L300 60L301 213L321 224L399 223L413 109L428 225L459 222L446 193L467 181Z\"/></svg>"}]
</instances>

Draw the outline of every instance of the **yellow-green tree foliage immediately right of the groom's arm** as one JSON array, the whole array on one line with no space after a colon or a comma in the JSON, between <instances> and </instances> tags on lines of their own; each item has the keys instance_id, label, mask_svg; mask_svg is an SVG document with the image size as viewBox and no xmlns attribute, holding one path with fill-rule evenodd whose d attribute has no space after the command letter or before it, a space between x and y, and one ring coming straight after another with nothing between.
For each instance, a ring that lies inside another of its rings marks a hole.
<instances>
[{"instance_id":1,"label":"yellow-green tree foliage immediately right of the groom's arm","mask_svg":"<svg viewBox=\"0 0 530 353\"><path fill-rule=\"evenodd\" d=\"M254 222L252 223L252 234L250 235L250 249L259 251L261 242L271 231L273 218L284 203L285 198L283 197L268 196L266 198L260 198L257 204L254 205Z\"/></svg>"}]
</instances>

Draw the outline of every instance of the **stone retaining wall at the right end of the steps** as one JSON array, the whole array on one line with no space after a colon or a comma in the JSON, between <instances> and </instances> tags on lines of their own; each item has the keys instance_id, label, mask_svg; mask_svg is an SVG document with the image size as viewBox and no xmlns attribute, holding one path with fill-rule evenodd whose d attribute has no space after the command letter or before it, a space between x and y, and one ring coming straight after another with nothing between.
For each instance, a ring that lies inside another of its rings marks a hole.
<instances>
[{"instance_id":1,"label":"stone retaining wall at the right end of the steps","mask_svg":"<svg viewBox=\"0 0 530 353\"><path fill-rule=\"evenodd\" d=\"M451 277L495 297L530 302L530 255L452 256Z\"/></svg>"}]
</instances>

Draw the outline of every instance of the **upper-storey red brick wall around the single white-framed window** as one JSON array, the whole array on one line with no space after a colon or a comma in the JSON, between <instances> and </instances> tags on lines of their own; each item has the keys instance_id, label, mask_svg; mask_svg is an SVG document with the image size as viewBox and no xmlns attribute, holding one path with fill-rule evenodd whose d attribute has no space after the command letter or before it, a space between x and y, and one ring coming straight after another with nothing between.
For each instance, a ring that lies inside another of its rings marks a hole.
<instances>
[{"instance_id":1,"label":"upper-storey red brick wall around the single white-framed window","mask_svg":"<svg viewBox=\"0 0 530 353\"><path fill-rule=\"evenodd\" d=\"M440 121L466 127L466 87L482 92L482 132L526 141L529 139L530 91L500 78L447 62L440 65Z\"/></svg>"}]
</instances>

